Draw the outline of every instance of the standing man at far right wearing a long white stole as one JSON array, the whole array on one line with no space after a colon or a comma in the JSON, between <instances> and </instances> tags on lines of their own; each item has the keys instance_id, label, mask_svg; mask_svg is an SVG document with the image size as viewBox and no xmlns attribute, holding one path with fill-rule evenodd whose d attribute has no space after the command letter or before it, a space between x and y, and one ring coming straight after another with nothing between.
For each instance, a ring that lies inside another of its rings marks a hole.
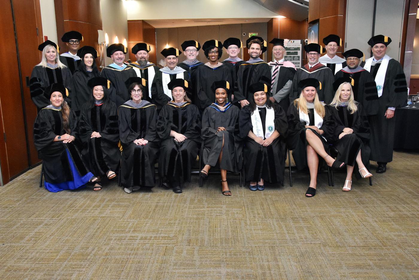
<instances>
[{"instance_id":1,"label":"standing man at far right wearing a long white stole","mask_svg":"<svg viewBox=\"0 0 419 280\"><path fill-rule=\"evenodd\" d=\"M407 84L403 68L398 61L385 54L391 39L384 35L372 37L372 58L364 68L372 74L377 84L378 113L368 118L371 127L371 157L378 164L377 173L384 173L388 162L393 160L394 110L406 106Z\"/></svg>"}]
</instances>

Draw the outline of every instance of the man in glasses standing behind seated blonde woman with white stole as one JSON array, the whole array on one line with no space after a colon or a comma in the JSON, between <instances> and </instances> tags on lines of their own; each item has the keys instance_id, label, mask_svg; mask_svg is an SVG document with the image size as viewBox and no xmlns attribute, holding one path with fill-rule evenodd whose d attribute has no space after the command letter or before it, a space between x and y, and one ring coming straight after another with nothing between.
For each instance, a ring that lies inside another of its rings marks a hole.
<instances>
[{"instance_id":1,"label":"man in glasses standing behind seated blonde woman with white stole","mask_svg":"<svg viewBox=\"0 0 419 280\"><path fill-rule=\"evenodd\" d=\"M319 44L310 43L304 46L304 50L307 52L308 63L297 69L295 73L294 79L292 80L290 102L294 102L303 90L298 86L299 82L304 79L314 78L321 83L321 89L317 91L320 101L330 104L335 95L333 92L334 76L330 68L318 62L322 47Z\"/></svg>"}]
</instances>

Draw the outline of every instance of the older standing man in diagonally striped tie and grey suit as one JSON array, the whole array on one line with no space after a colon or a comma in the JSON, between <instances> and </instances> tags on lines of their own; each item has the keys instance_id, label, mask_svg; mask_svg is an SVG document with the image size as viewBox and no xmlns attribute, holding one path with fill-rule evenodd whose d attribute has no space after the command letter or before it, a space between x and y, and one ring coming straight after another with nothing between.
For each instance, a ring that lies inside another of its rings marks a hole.
<instances>
[{"instance_id":1,"label":"older standing man in diagonally striped tie and grey suit","mask_svg":"<svg viewBox=\"0 0 419 280\"><path fill-rule=\"evenodd\" d=\"M284 39L274 38L269 43L274 44L272 49L274 60L269 62L272 74L271 97L269 99L274 103L277 102L287 112L288 106L290 106L289 95L292 90L295 65L290 61L284 61L284 56L287 53Z\"/></svg>"}]
</instances>

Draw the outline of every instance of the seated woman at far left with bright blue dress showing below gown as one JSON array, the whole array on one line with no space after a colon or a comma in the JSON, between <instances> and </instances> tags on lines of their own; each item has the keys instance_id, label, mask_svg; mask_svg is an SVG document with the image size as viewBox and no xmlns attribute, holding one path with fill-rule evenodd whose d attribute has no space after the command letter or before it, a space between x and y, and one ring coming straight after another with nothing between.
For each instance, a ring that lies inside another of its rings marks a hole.
<instances>
[{"instance_id":1,"label":"seated woman at far left with bright blue dress showing below gown","mask_svg":"<svg viewBox=\"0 0 419 280\"><path fill-rule=\"evenodd\" d=\"M98 178L88 172L74 141L77 139L77 120L64 98L67 89L51 84L44 98L50 105L40 110L34 123L35 147L44 167L44 186L48 191L74 190Z\"/></svg>"}]
</instances>

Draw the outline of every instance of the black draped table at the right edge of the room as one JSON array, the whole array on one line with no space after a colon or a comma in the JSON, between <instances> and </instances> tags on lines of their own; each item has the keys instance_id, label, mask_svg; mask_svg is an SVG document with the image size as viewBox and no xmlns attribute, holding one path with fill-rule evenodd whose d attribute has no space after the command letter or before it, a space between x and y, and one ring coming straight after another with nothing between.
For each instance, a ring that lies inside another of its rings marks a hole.
<instances>
[{"instance_id":1,"label":"black draped table at the right edge of the room","mask_svg":"<svg viewBox=\"0 0 419 280\"><path fill-rule=\"evenodd\" d=\"M419 108L396 108L394 118L394 149L419 149Z\"/></svg>"}]
</instances>

